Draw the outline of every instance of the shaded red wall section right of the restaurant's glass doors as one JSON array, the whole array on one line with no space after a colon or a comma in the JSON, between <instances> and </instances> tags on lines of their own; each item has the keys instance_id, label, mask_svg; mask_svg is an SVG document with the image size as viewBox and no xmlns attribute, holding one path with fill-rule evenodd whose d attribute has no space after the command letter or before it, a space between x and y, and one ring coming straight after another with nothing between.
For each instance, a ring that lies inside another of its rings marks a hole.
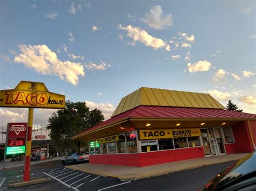
<instances>
[{"instance_id":1,"label":"shaded red wall section right of the restaurant's glass doors","mask_svg":"<svg viewBox=\"0 0 256 191\"><path fill-rule=\"evenodd\" d=\"M233 135L234 135L234 144L225 144L226 152L228 153L237 153L237 152L252 152L253 146L248 131L247 121L240 122L235 126L232 126Z\"/></svg>"}]
</instances>

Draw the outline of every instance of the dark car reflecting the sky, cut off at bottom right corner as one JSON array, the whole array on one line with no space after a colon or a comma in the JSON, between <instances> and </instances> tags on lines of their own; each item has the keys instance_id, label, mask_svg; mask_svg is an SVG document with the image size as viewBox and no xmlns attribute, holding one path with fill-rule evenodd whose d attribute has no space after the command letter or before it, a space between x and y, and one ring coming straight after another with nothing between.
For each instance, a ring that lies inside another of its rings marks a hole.
<instances>
[{"instance_id":1,"label":"dark car reflecting the sky, cut off at bottom right corner","mask_svg":"<svg viewBox=\"0 0 256 191\"><path fill-rule=\"evenodd\" d=\"M227 167L199 190L256 190L256 151Z\"/></svg>"}]
</instances>

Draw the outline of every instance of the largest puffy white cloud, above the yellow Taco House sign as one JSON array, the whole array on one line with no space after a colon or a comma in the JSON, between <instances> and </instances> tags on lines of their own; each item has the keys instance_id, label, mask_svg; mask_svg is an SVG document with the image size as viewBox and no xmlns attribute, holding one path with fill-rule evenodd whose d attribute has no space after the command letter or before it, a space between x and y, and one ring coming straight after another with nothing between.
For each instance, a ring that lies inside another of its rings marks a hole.
<instances>
[{"instance_id":1,"label":"largest puffy white cloud, above the yellow Taco House sign","mask_svg":"<svg viewBox=\"0 0 256 191\"><path fill-rule=\"evenodd\" d=\"M78 76L85 75L80 62L60 61L46 45L19 45L19 50L21 54L15 56L14 61L43 75L57 75L75 86L79 81Z\"/></svg>"}]
</instances>

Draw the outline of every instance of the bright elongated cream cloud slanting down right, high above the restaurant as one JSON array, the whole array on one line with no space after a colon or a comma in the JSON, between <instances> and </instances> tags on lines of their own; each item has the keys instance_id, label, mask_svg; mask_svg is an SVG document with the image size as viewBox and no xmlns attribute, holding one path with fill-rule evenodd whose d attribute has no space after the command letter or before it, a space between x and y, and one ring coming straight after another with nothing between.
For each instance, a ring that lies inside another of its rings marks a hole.
<instances>
[{"instance_id":1,"label":"bright elongated cream cloud slanting down right, high above the restaurant","mask_svg":"<svg viewBox=\"0 0 256 191\"><path fill-rule=\"evenodd\" d=\"M140 43L143 43L145 46L150 46L153 49L168 47L168 45L165 43L164 40L156 37L152 37L145 30L140 29L140 27L133 27L131 25L129 26L119 25L118 27L121 30L127 31L128 32L127 36L132 38L133 41L139 41Z\"/></svg>"}]
</instances>

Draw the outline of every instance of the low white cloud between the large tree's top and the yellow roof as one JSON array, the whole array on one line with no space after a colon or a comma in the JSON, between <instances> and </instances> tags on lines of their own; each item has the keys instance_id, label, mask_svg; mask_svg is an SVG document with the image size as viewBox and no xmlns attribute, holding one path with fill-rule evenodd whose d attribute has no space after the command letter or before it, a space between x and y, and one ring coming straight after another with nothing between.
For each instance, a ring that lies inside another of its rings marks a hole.
<instances>
[{"instance_id":1,"label":"low white cloud between the large tree's top and the yellow roof","mask_svg":"<svg viewBox=\"0 0 256 191\"><path fill-rule=\"evenodd\" d=\"M91 101L85 101L85 103L86 103L86 106L90 108L90 110L97 108L100 111L102 111L105 119L109 119L113 114L114 110L116 109L114 105L112 105L111 103L104 104L104 103L95 103Z\"/></svg>"}]
</instances>

